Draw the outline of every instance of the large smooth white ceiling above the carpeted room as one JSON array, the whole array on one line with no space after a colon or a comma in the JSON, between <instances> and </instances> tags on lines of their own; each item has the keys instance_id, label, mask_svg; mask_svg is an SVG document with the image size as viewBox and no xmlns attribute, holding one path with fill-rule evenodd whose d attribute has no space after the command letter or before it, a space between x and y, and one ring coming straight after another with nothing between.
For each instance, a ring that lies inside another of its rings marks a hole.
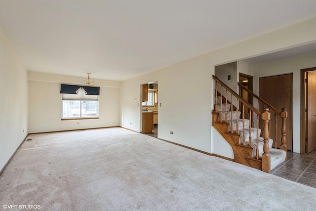
<instances>
[{"instance_id":1,"label":"large smooth white ceiling above the carpeted room","mask_svg":"<svg viewBox=\"0 0 316 211\"><path fill-rule=\"evenodd\" d=\"M0 0L27 70L126 80L316 16L316 0Z\"/></svg>"}]
</instances>

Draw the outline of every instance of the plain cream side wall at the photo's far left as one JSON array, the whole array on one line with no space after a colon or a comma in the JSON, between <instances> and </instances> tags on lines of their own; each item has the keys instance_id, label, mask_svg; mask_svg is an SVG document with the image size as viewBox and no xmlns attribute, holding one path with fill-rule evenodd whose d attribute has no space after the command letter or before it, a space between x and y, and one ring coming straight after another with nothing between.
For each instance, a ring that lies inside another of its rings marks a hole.
<instances>
[{"instance_id":1,"label":"plain cream side wall at the photo's far left","mask_svg":"<svg viewBox=\"0 0 316 211\"><path fill-rule=\"evenodd\" d=\"M0 170L28 134L27 71L0 28Z\"/></svg>"}]
</instances>

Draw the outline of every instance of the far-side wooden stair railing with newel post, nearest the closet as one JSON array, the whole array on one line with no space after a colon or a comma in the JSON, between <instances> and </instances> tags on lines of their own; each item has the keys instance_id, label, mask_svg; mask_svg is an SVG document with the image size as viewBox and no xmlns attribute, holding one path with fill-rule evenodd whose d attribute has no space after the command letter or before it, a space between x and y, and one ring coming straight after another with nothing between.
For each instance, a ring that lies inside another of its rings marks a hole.
<instances>
[{"instance_id":1,"label":"far-side wooden stair railing with newel post, nearest the closet","mask_svg":"<svg viewBox=\"0 0 316 211\"><path fill-rule=\"evenodd\" d=\"M262 108L266 108L268 107L270 109L270 111L272 111L274 113L274 119L275 119L275 143L274 143L274 147L277 148L278 145L278 136L277 136L277 131L278 131L278 127L277 127L277 118L280 117L281 121L282 121L282 126L281 126L281 142L280 142L280 149L284 150L285 152L287 152L287 145L286 145L286 118L287 118L287 109L286 108L282 108L282 111L278 111L275 107L273 107L272 105L270 105L267 101L263 100L262 98L260 98L258 95L256 95L255 93L253 93L252 91L250 91L248 88L246 88L245 86L243 86L242 84L240 84L239 82L237 83L239 86L239 93L243 93L243 91L246 91L248 93L248 98L249 95L251 95L252 97L256 98L258 101L257 104L257 108L259 110L259 106L260 104L262 105ZM248 101L248 99L247 99ZM254 102L252 102L254 103ZM271 121L269 122L269 138L271 138ZM287 154L287 153L286 153ZM287 156L286 159L287 160Z\"/></svg>"}]
</instances>

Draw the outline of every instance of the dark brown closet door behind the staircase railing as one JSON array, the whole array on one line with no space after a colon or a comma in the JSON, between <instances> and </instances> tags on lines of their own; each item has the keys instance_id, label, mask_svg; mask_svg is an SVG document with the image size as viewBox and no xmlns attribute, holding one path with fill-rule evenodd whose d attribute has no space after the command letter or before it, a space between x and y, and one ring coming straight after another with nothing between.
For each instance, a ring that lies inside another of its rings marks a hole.
<instances>
[{"instance_id":1,"label":"dark brown closet door behind the staircase railing","mask_svg":"<svg viewBox=\"0 0 316 211\"><path fill-rule=\"evenodd\" d=\"M292 133L292 89L293 86L293 74L279 75L264 77L259 79L259 96L267 101L270 105L276 108L277 111L281 111L283 107L287 108L286 119L286 140L287 149L293 150L293 133ZM260 104L260 111L266 107ZM260 127L262 121L260 122ZM277 126L277 133L275 127ZM275 113L271 111L271 138L277 140L277 148L281 145L281 126L282 120L280 117L276 117ZM275 146L275 143L274 145Z\"/></svg>"}]
</instances>

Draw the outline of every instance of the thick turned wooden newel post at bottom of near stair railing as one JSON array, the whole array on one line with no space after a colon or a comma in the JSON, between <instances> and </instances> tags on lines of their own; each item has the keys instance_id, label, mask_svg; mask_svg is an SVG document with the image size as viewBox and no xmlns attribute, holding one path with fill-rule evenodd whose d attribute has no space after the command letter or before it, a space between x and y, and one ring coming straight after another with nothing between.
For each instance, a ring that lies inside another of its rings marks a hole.
<instances>
[{"instance_id":1,"label":"thick turned wooden newel post at bottom of near stair railing","mask_svg":"<svg viewBox=\"0 0 316 211\"><path fill-rule=\"evenodd\" d=\"M271 172L271 158L269 154L269 122L271 114L269 108L264 108L261 114L261 119L263 120L263 154L262 154L262 170L264 172Z\"/></svg>"}]
</instances>

